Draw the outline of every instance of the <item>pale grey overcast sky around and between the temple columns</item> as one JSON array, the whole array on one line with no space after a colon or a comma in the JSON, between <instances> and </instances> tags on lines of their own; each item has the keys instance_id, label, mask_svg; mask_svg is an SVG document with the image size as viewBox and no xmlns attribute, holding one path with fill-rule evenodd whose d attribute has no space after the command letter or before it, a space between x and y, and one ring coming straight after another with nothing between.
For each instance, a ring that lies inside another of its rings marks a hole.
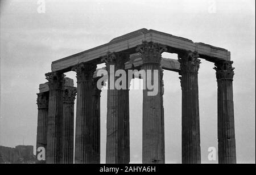
<instances>
[{"instance_id":1,"label":"pale grey overcast sky around and between the temple columns","mask_svg":"<svg viewBox=\"0 0 256 175\"><path fill-rule=\"evenodd\" d=\"M255 163L255 1L38 1L1 0L0 145L36 144L39 84L51 62L141 28L228 49L234 61L234 114L238 163ZM175 58L176 54L163 53ZM217 82L213 63L201 59L201 159L217 148ZM75 72L66 74L76 82ZM181 88L164 71L166 163L181 163ZM75 83L76 84L76 83ZM101 93L101 162L105 162L106 90ZM142 91L130 90L131 163L142 161Z\"/></svg>"}]
</instances>

